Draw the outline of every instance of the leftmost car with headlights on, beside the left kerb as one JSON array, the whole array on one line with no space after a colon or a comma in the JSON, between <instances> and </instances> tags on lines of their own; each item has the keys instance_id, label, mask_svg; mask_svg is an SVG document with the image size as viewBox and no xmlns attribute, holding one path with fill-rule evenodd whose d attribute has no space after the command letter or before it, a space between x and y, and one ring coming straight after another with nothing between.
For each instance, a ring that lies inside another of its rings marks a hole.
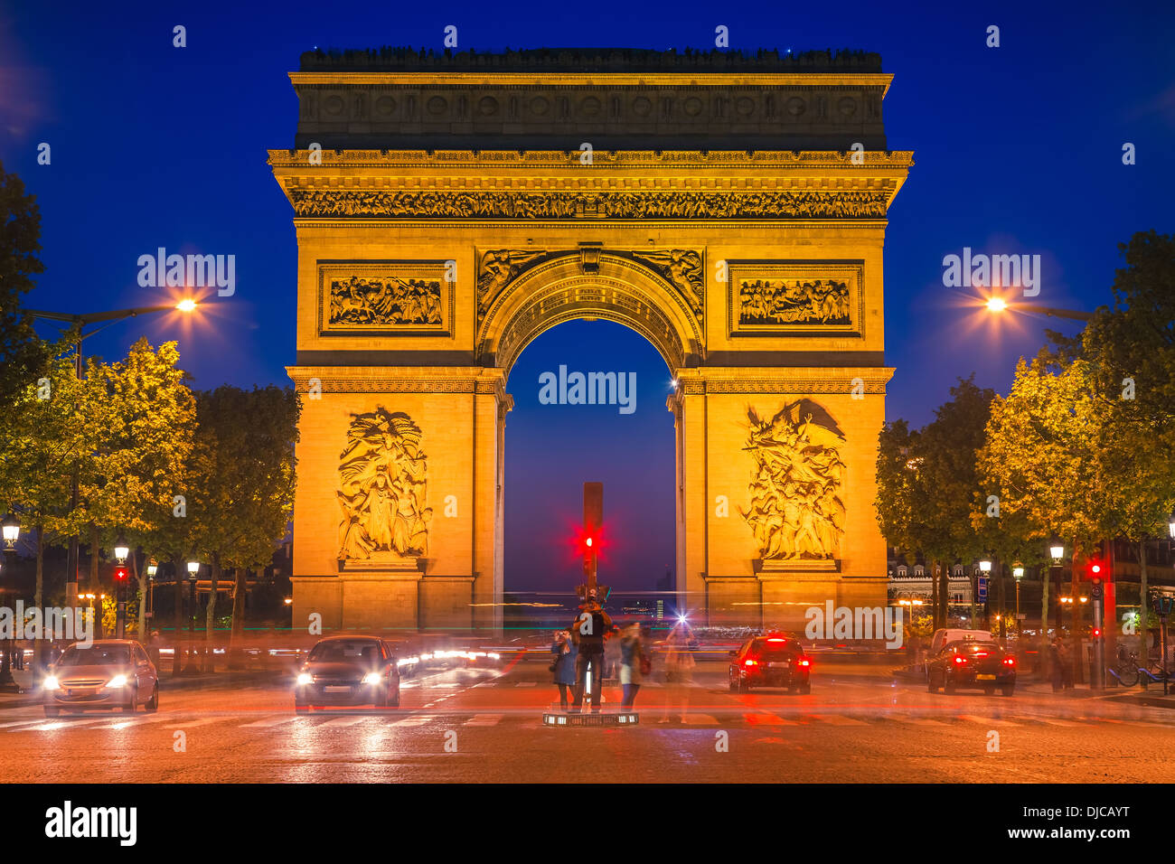
<instances>
[{"instance_id":1,"label":"leftmost car with headlights on, beside the left kerb","mask_svg":"<svg viewBox=\"0 0 1175 864\"><path fill-rule=\"evenodd\" d=\"M159 671L134 639L75 642L48 668L41 682L45 716L62 711L159 710Z\"/></svg>"}]
</instances>

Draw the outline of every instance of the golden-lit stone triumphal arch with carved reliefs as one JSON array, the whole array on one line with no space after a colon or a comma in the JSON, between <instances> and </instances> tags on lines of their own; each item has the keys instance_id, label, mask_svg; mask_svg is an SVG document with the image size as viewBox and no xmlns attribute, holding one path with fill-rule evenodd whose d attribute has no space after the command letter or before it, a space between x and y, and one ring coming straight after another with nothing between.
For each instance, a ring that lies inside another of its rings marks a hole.
<instances>
[{"instance_id":1,"label":"golden-lit stone triumphal arch with carved reliefs","mask_svg":"<svg viewBox=\"0 0 1175 864\"><path fill-rule=\"evenodd\" d=\"M501 623L510 369L578 317L679 382L685 605L885 605L882 247L912 154L885 149L875 55L311 53L290 78L295 621Z\"/></svg>"}]
</instances>

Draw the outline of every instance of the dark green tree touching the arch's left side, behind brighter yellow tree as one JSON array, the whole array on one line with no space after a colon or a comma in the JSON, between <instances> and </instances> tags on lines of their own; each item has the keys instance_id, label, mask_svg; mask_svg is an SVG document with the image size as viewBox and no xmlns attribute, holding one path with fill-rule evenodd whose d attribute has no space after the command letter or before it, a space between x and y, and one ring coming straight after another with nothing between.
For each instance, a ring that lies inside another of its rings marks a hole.
<instances>
[{"instance_id":1,"label":"dark green tree touching the arch's left side, behind brighter yellow tree","mask_svg":"<svg viewBox=\"0 0 1175 864\"><path fill-rule=\"evenodd\" d=\"M268 564L289 529L298 411L293 388L226 386L196 396L189 514L195 545L210 564L209 643L222 572L234 571L235 641L244 617L246 571Z\"/></svg>"}]
</instances>

